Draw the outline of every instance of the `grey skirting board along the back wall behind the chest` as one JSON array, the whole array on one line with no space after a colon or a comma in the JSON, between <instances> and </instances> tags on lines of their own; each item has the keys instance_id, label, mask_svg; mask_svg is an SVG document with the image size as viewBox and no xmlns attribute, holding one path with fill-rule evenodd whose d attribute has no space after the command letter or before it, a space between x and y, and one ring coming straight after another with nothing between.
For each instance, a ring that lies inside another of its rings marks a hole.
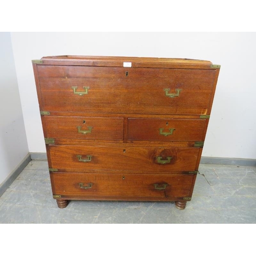
<instances>
[{"instance_id":1,"label":"grey skirting board along the back wall behind the chest","mask_svg":"<svg viewBox=\"0 0 256 256\"><path fill-rule=\"evenodd\" d=\"M47 160L46 153L30 153L32 160ZM201 157L200 163L256 166L256 159Z\"/></svg>"}]
</instances>

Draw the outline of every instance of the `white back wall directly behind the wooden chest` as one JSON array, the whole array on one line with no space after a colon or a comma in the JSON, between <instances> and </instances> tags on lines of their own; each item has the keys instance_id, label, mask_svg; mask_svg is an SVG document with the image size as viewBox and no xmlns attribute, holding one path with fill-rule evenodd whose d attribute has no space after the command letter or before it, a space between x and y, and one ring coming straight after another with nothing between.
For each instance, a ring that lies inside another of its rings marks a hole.
<instances>
[{"instance_id":1,"label":"white back wall directly behind the wooden chest","mask_svg":"<svg viewBox=\"0 0 256 256\"><path fill-rule=\"evenodd\" d=\"M256 158L256 33L11 33L30 152L46 152L31 59L50 55L178 57L221 65L203 156Z\"/></svg>"}]
</instances>

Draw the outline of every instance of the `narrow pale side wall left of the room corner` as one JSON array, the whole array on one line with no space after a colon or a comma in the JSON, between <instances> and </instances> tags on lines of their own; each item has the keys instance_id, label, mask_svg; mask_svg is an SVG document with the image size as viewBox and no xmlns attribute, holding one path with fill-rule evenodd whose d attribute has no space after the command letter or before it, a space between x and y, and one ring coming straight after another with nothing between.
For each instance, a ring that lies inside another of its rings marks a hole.
<instances>
[{"instance_id":1,"label":"narrow pale side wall left of the room corner","mask_svg":"<svg viewBox=\"0 0 256 256\"><path fill-rule=\"evenodd\" d=\"M8 32L0 32L0 116L1 184L29 153Z\"/></svg>"}]
</instances>

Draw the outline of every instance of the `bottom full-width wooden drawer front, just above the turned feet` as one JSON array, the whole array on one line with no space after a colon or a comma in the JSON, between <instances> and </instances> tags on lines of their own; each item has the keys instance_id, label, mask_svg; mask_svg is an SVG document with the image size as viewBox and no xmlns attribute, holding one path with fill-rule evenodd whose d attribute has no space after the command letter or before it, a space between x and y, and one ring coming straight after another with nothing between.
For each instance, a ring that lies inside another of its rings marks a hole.
<instances>
[{"instance_id":1,"label":"bottom full-width wooden drawer front, just above the turned feet","mask_svg":"<svg viewBox=\"0 0 256 256\"><path fill-rule=\"evenodd\" d=\"M54 195L88 200L190 197L193 179L194 175L51 174Z\"/></svg>"}]
</instances>

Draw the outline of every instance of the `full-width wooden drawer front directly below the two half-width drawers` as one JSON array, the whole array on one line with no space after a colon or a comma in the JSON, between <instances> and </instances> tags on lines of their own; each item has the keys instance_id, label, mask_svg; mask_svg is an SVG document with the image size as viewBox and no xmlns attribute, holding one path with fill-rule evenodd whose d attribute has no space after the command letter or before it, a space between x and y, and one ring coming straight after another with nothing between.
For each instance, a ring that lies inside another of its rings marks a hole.
<instances>
[{"instance_id":1,"label":"full-width wooden drawer front directly below the two half-width drawers","mask_svg":"<svg viewBox=\"0 0 256 256\"><path fill-rule=\"evenodd\" d=\"M200 148L192 147L49 146L52 168L61 172L192 171L200 152Z\"/></svg>"}]
</instances>

